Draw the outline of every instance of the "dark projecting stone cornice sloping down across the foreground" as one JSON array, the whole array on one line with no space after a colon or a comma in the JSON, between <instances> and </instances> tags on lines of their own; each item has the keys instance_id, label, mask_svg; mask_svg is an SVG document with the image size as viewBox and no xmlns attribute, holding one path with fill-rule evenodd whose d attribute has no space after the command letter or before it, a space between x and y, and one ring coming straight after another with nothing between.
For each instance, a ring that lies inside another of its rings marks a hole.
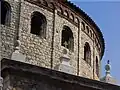
<instances>
[{"instance_id":1,"label":"dark projecting stone cornice sloping down across the foreground","mask_svg":"<svg viewBox=\"0 0 120 90\"><path fill-rule=\"evenodd\" d=\"M35 65L31 65L28 63L23 63L23 62L11 60L11 59L4 58L1 60L1 64L2 64L1 70L2 70L3 78L6 77L6 74L7 74L6 72L9 71L8 74L19 73L19 76L20 76L23 73L25 73L25 75L28 75L28 76L36 76L36 75L38 77L45 76L46 78L49 77L51 80L55 79L57 80L57 82L62 81L62 82L65 82L66 84L70 83L72 85L77 85L79 87L81 86L89 87L92 90L113 90L113 89L119 90L120 89L120 86L118 85L104 83L97 80L92 80L92 79L88 79L88 78L84 78L84 77L80 77L72 74L67 74L64 72L60 72L60 71L56 71L56 70L52 70L52 69L48 69L40 66L35 66Z\"/></svg>"}]
</instances>

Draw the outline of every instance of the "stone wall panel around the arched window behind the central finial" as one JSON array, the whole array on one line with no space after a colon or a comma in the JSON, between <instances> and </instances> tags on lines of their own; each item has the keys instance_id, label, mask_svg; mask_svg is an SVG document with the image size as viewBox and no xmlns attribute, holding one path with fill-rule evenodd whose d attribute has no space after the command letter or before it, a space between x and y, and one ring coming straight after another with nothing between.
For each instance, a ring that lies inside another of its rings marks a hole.
<instances>
[{"instance_id":1,"label":"stone wall panel around the arched window behind the central finial","mask_svg":"<svg viewBox=\"0 0 120 90\"><path fill-rule=\"evenodd\" d=\"M58 31L55 32L55 43L54 43L54 67L60 63L60 57L63 54L63 49L65 47L61 46L61 40L62 40L62 30L63 26L68 26L72 32L74 37L74 51L69 51L69 57L70 57L70 64L74 68L74 73L77 74L77 58L78 58L78 27L73 25L72 23L68 22L66 19L61 18L60 16L56 15L55 18L55 30Z\"/></svg>"}]
</instances>

